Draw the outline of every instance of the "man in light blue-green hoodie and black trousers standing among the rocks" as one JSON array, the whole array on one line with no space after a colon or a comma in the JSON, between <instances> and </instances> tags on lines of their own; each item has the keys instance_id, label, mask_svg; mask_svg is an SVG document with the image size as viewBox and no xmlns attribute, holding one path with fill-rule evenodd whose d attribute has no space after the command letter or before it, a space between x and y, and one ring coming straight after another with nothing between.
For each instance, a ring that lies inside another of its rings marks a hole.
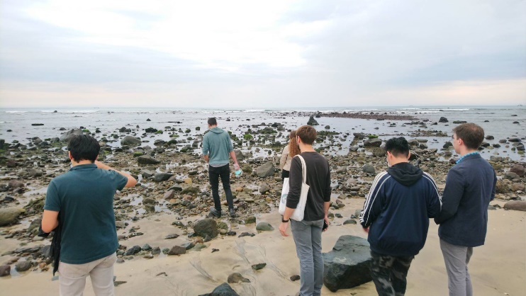
<instances>
[{"instance_id":1,"label":"man in light blue-green hoodie and black trousers standing among the rocks","mask_svg":"<svg viewBox=\"0 0 526 296\"><path fill-rule=\"evenodd\" d=\"M221 201L219 198L219 177L223 183L226 200L228 203L228 214L235 217L234 198L230 190L230 159L234 161L235 171L240 169L235 158L234 147L230 135L218 127L216 118L208 118L209 131L203 137L203 155L208 162L208 177L212 186L212 197L214 206L210 208L211 215L221 217Z\"/></svg>"}]
</instances>

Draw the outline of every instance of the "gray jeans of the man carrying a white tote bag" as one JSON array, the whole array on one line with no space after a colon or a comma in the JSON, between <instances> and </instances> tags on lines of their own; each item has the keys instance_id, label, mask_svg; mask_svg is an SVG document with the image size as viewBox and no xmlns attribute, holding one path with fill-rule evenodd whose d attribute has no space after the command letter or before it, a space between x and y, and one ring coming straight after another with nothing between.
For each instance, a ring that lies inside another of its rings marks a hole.
<instances>
[{"instance_id":1,"label":"gray jeans of the man carrying a white tote bag","mask_svg":"<svg viewBox=\"0 0 526 296\"><path fill-rule=\"evenodd\" d=\"M295 221L291 219L291 231L296 254L300 259L300 295L321 295L323 286L323 257L321 254L321 229L323 219L318 221Z\"/></svg>"}]
</instances>

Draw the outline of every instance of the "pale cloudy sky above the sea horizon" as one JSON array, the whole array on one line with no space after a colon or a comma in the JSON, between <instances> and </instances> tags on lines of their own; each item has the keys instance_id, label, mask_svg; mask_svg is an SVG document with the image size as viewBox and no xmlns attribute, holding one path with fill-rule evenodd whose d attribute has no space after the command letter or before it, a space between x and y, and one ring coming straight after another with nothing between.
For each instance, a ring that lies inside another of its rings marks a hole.
<instances>
[{"instance_id":1,"label":"pale cloudy sky above the sea horizon","mask_svg":"<svg viewBox=\"0 0 526 296\"><path fill-rule=\"evenodd\" d=\"M0 0L0 107L526 104L526 1Z\"/></svg>"}]
</instances>

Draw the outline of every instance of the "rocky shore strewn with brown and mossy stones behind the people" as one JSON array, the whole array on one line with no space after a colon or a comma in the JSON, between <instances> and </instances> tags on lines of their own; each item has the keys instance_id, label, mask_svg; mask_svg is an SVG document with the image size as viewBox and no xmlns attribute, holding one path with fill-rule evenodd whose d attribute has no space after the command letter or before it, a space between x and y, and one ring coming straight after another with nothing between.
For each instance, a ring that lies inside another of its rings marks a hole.
<instances>
[{"instance_id":1,"label":"rocky shore strewn with brown and mossy stones behind the people","mask_svg":"<svg viewBox=\"0 0 526 296\"><path fill-rule=\"evenodd\" d=\"M340 113L323 116L352 118L355 115ZM376 114L372 118L393 120L392 116L396 120L415 120L416 125L425 124L410 115ZM214 252L213 241L218 239L254 237L260 232L272 231L272 224L262 221L260 217L277 212L281 195L279 152L285 144L279 140L288 134L287 128L291 127L279 123L242 127L241 134L238 131L232 135L235 147L250 147L254 152L268 153L265 156L253 156L250 152L236 149L243 173L240 177L231 178L237 212L237 217L233 219L228 218L228 215L220 219L206 217L213 200L206 162L199 155L204 133L199 127L183 130L167 126L157 130L127 125L118 131L103 131L101 127L93 132L82 128L64 129L55 138L32 137L27 143L6 143L0 140L0 276L18 276L26 271L52 269L52 261L47 257L50 239L43 239L36 234L47 184L69 169L65 145L71 135L80 133L89 133L101 142L101 161L115 169L132 173L139 181L135 188L116 194L114 206L121 244L118 263L155 260L159 256L184 256L202 249ZM196 135L189 135L191 131L196 131ZM150 142L142 146L153 135L163 132L168 133L172 140L155 140L152 146ZM439 141L444 142L443 148L428 148L427 140L418 138L423 135L440 137ZM410 140L413 164L431 173L439 188L443 189L447 171L455 160L446 133L440 130L419 130L403 136ZM344 137L352 138L349 153L330 154L330 148L337 146ZM387 168L385 152L381 147L385 140L388 137L360 132L348 135L333 131L319 132L315 147L325 155L331 166L332 220L339 221L339 224L356 223L355 210L359 210L359 207L352 209L354 215L342 215L342 209L349 200L363 203L376 173ZM499 145L524 151L523 140L503 139ZM120 144L116 145L116 142ZM495 147L495 144L486 144L481 149ZM489 161L499 178L496 198L511 200L505 205L508 210L526 210L525 164L503 156L491 156ZM152 229L142 226L144 223L141 222L156 220L160 216L164 217L162 221L166 223L163 227L171 230L162 234L162 238L153 237L149 234ZM135 244L139 241L138 237L145 238L140 240L141 244ZM198 266L194 268L199 270ZM269 266L254 268L257 270ZM249 279L242 275L232 275L228 282L246 283L246 280Z\"/></svg>"}]
</instances>

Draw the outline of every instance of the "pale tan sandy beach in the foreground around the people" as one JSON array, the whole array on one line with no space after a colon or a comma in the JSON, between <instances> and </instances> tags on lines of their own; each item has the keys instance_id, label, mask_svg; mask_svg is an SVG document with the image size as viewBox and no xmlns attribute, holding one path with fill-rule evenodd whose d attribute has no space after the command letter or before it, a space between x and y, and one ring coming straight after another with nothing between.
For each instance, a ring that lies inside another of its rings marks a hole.
<instances>
[{"instance_id":1,"label":"pale tan sandy beach in the foreground around the people","mask_svg":"<svg viewBox=\"0 0 526 296\"><path fill-rule=\"evenodd\" d=\"M342 215L351 215L362 206L362 199L346 199ZM492 205L503 205L494 201ZM469 263L474 295L525 295L526 281L526 212L513 210L488 211L489 224L486 244L474 249ZM195 219L195 217L194 217ZM116 281L125 281L116 288L116 295L200 295L211 292L225 283L230 273L241 273L251 283L230 284L240 295L294 295L298 281L289 280L299 272L298 258L292 237L281 237L277 231L280 216L277 210L260 215L259 221L271 223L272 232L257 234L255 224L237 225L237 234L253 232L254 237L220 237L206 243L201 251L190 251L181 256L159 258L134 258L116 263ZM161 247L177 244L177 239L167 241L164 236L173 233L170 227L173 215L158 215L134 224L139 225L144 236L121 242L128 246L148 242ZM183 222L186 222L183 220ZM330 251L342 235L366 237L359 224L342 225L343 220L332 220L328 232L323 234L323 252ZM121 233L121 232L119 232ZM178 238L178 239L181 239ZM181 239L182 241L183 239ZM1 241L0 251L10 249ZM212 249L219 251L211 252ZM245 254L242 258L240 254ZM250 267L267 263L260 271ZM195 266L201 266L210 278L201 274ZM3 295L57 295L58 282L52 281L50 271L27 271L11 278L0 278ZM86 284L85 295L94 295L91 285ZM376 295L372 282L359 287L330 292L323 288L323 295ZM430 223L427 242L413 261L408 274L406 295L447 295L447 275L437 236L437 225Z\"/></svg>"}]
</instances>

